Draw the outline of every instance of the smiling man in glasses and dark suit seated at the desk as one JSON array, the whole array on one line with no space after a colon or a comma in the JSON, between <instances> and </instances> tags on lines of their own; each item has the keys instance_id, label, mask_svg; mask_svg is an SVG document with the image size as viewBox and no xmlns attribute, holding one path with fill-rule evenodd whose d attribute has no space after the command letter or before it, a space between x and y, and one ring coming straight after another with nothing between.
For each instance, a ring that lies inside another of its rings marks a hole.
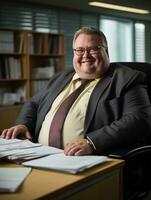
<instances>
[{"instance_id":1,"label":"smiling man in glasses and dark suit seated at the desk","mask_svg":"<svg viewBox=\"0 0 151 200\"><path fill-rule=\"evenodd\" d=\"M44 91L25 103L16 125L5 129L1 137L22 135L49 145L50 124L59 106L79 87L81 79L89 79L61 130L60 148L65 154L106 154L114 148L143 143L151 129L145 75L110 64L106 38L95 28L83 27L75 33L73 51L74 70L53 77Z\"/></svg>"}]
</instances>

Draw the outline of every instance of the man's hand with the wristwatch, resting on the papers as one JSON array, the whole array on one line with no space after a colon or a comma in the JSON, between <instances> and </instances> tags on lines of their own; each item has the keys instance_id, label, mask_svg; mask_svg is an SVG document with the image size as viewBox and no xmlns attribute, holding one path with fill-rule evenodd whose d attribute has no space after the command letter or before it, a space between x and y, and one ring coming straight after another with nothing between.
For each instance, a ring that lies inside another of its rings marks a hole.
<instances>
[{"instance_id":1,"label":"man's hand with the wristwatch, resting on the papers","mask_svg":"<svg viewBox=\"0 0 151 200\"><path fill-rule=\"evenodd\" d=\"M66 144L64 153L67 156L91 155L93 149L86 139L77 139Z\"/></svg>"}]
</instances>

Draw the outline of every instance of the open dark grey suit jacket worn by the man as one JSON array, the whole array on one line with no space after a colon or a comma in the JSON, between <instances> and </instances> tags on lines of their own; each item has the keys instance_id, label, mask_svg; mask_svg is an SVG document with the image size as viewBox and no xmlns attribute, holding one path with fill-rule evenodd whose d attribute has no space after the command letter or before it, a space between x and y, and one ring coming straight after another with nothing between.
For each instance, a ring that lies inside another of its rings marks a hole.
<instances>
[{"instance_id":1,"label":"open dark grey suit jacket worn by the man","mask_svg":"<svg viewBox=\"0 0 151 200\"><path fill-rule=\"evenodd\" d=\"M33 141L37 142L45 115L74 73L57 74L45 90L25 103L16 124L26 125ZM116 147L144 142L150 126L151 106L145 74L111 64L91 94L85 117L85 137L93 141L96 153L107 153Z\"/></svg>"}]
</instances>

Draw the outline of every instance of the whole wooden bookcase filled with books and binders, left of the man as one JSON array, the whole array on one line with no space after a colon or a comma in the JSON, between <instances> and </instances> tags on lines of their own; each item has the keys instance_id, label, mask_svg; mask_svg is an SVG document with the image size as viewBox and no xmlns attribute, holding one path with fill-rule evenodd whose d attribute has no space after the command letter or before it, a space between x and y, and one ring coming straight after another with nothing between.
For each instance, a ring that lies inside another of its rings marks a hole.
<instances>
[{"instance_id":1,"label":"whole wooden bookcase filled with books and binders, left of the man","mask_svg":"<svg viewBox=\"0 0 151 200\"><path fill-rule=\"evenodd\" d=\"M7 127L21 105L64 70L64 45L64 34L0 29L0 118ZM7 127L0 125L0 132Z\"/></svg>"}]
</instances>

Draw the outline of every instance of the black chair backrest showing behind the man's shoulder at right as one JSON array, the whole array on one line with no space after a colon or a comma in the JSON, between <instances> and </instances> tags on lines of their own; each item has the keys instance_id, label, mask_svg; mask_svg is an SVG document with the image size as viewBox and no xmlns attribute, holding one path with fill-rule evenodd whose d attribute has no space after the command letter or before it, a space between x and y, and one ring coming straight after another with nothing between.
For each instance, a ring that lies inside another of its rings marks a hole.
<instances>
[{"instance_id":1,"label":"black chair backrest showing behind the man's shoulder at right","mask_svg":"<svg viewBox=\"0 0 151 200\"><path fill-rule=\"evenodd\" d=\"M119 62L119 64L128 66L132 69L142 71L146 74L147 85L148 85L148 95L151 101L151 63L148 62Z\"/></svg>"}]
</instances>

